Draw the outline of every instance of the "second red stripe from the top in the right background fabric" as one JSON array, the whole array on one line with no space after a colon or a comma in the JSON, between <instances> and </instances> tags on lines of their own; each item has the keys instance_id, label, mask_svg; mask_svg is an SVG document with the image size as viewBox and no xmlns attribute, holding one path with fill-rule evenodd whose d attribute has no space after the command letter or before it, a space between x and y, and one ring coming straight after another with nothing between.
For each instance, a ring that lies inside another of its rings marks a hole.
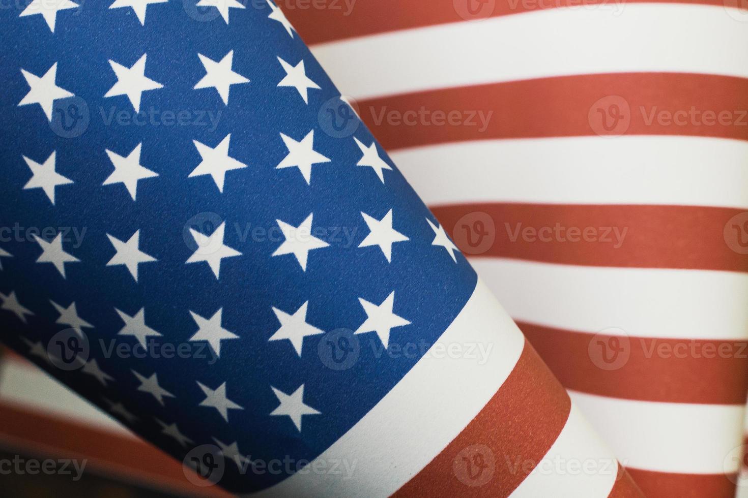
<instances>
[{"instance_id":1,"label":"second red stripe from the top in the right background fabric","mask_svg":"<svg viewBox=\"0 0 748 498\"><path fill-rule=\"evenodd\" d=\"M748 140L748 79L719 75L560 76L386 96L358 102L358 107L361 119L390 151L465 140L624 131ZM487 125L478 119L479 112ZM614 120L612 113L620 119ZM603 117L617 127L603 128ZM712 119L712 125L705 124Z\"/></svg>"}]
</instances>

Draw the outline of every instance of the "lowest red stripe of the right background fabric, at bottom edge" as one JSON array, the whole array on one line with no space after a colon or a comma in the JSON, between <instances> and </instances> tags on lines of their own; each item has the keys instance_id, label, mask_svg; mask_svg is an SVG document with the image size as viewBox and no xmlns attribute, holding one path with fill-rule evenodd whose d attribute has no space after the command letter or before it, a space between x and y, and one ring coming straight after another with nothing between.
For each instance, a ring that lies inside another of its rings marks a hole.
<instances>
[{"instance_id":1,"label":"lowest red stripe of the right background fabric, at bottom edge","mask_svg":"<svg viewBox=\"0 0 748 498\"><path fill-rule=\"evenodd\" d=\"M631 468L627 470L648 497L735 498L735 484L723 474L675 474ZM737 479L736 476L730 477L733 480Z\"/></svg>"}]
</instances>

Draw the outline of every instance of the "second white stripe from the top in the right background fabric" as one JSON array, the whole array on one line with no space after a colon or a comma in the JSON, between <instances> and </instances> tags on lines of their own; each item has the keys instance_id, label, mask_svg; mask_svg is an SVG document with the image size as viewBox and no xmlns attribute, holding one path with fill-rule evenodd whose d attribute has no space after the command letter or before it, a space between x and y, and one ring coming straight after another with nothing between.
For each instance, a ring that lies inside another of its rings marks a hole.
<instances>
[{"instance_id":1,"label":"second white stripe from the top in the right background fabric","mask_svg":"<svg viewBox=\"0 0 748 498\"><path fill-rule=\"evenodd\" d=\"M742 140L482 140L401 149L390 156L430 206L535 202L748 208L748 142Z\"/></svg>"}]
</instances>

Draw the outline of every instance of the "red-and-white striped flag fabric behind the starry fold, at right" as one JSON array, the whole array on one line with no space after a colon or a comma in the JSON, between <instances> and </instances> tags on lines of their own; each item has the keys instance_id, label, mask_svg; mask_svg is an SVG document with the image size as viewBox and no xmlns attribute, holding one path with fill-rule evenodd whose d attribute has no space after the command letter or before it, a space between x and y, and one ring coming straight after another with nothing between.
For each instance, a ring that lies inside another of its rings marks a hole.
<instances>
[{"instance_id":1,"label":"red-and-white striped flag fabric behind the starry fold, at right","mask_svg":"<svg viewBox=\"0 0 748 498\"><path fill-rule=\"evenodd\" d=\"M637 483L734 496L748 387L740 2L323 3L286 7Z\"/></svg>"}]
</instances>

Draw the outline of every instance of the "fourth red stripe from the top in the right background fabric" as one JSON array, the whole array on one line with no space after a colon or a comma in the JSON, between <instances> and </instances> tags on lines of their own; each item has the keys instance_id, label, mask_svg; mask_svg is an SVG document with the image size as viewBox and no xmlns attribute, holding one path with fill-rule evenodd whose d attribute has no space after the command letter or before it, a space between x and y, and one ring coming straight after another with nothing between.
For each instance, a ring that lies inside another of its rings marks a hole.
<instances>
[{"instance_id":1,"label":"fourth red stripe from the top in the right background fabric","mask_svg":"<svg viewBox=\"0 0 748 498\"><path fill-rule=\"evenodd\" d=\"M641 401L745 402L747 341L614 337L518 325L568 389Z\"/></svg>"}]
</instances>

